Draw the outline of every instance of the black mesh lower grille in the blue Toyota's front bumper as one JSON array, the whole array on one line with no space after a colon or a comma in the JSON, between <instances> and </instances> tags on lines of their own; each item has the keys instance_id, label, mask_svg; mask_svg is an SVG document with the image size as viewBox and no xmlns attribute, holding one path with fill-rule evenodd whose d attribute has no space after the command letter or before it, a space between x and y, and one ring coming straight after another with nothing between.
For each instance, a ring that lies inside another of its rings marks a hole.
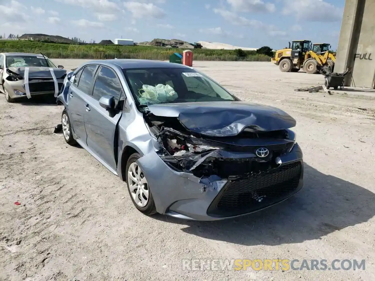
<instances>
[{"instance_id":1,"label":"black mesh lower grille in the blue Toyota's front bumper","mask_svg":"<svg viewBox=\"0 0 375 281\"><path fill-rule=\"evenodd\" d=\"M228 182L207 210L213 217L254 212L278 203L298 191L302 162L296 161Z\"/></svg>"}]
</instances>

